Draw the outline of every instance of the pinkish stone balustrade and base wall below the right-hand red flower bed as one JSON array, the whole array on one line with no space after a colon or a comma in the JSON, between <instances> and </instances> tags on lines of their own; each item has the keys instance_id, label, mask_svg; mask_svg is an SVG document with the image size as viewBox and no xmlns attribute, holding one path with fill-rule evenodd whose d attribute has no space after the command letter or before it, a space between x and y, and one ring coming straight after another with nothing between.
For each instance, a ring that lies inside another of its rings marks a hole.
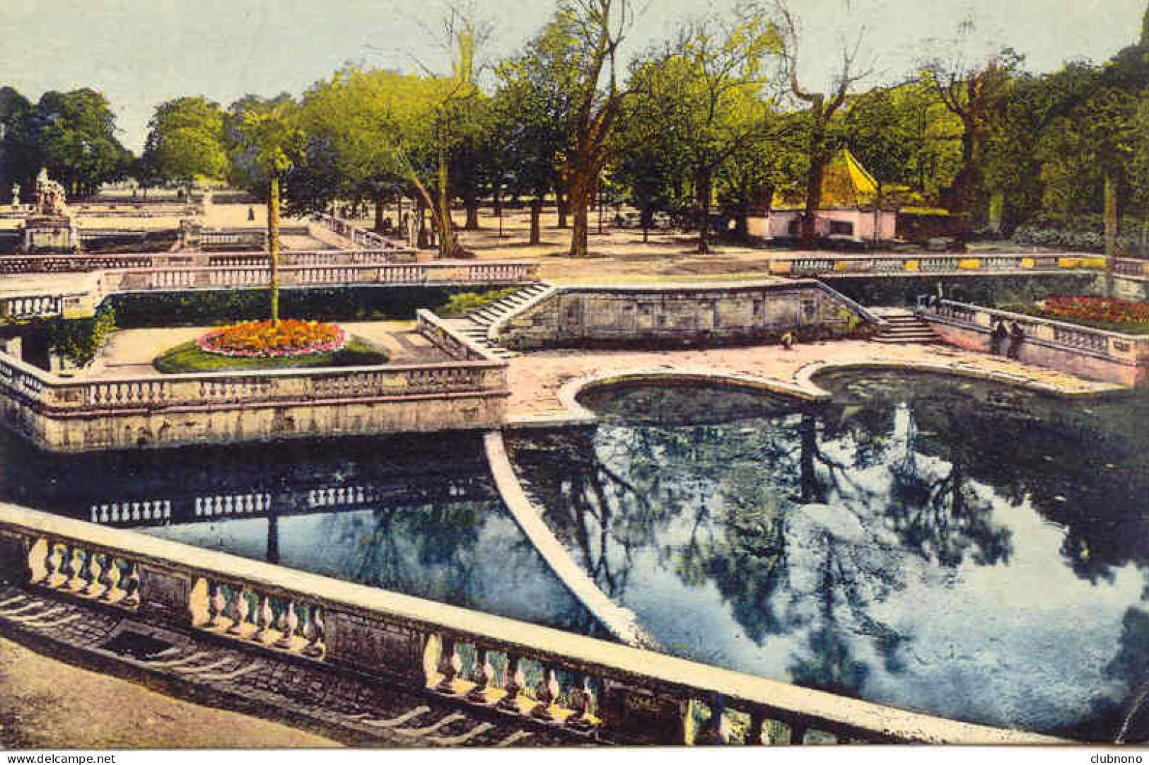
<instances>
[{"instance_id":1,"label":"pinkish stone balustrade and base wall below the right-hand red flower bed","mask_svg":"<svg viewBox=\"0 0 1149 765\"><path fill-rule=\"evenodd\" d=\"M1013 314L950 300L919 298L917 315L946 340L971 350L990 350L993 329L1016 325L1020 338L1012 355L1081 377L1143 385L1149 382L1149 335L1121 334L1055 319ZM1011 343L1011 339L1002 342ZM1002 351L1004 353L1004 351Z\"/></svg>"}]
</instances>

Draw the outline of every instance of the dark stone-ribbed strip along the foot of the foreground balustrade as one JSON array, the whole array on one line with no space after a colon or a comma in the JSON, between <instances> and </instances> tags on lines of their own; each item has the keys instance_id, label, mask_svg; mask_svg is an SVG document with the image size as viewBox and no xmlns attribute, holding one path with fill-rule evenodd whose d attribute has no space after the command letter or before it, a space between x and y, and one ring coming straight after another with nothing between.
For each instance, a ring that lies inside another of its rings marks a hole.
<instances>
[{"instance_id":1,"label":"dark stone-ribbed strip along the foot of the foreground balustrade","mask_svg":"<svg viewBox=\"0 0 1149 765\"><path fill-rule=\"evenodd\" d=\"M557 725L463 705L429 690L394 688L333 667L284 660L270 651L165 629L114 608L11 584L0 584L0 634L70 663L353 745L591 743Z\"/></svg>"}]
</instances>

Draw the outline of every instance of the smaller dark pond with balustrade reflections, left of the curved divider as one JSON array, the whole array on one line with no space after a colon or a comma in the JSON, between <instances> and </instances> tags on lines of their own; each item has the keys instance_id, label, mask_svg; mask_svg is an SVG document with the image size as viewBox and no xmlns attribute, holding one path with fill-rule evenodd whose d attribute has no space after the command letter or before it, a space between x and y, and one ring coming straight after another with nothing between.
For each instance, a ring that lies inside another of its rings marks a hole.
<instances>
[{"instance_id":1,"label":"smaller dark pond with balustrade reflections, left of the curved divider","mask_svg":"<svg viewBox=\"0 0 1149 765\"><path fill-rule=\"evenodd\" d=\"M584 634L478 435L47 455L0 434L0 501Z\"/></svg>"}]
</instances>

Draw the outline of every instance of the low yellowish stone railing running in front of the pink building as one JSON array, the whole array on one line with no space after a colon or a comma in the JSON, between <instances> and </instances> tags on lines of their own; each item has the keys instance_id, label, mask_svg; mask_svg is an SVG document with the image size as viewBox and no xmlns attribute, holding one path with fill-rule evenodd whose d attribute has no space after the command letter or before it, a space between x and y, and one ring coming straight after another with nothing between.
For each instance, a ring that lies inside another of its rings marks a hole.
<instances>
[{"instance_id":1,"label":"low yellowish stone railing running in front of the pink building","mask_svg":"<svg viewBox=\"0 0 1149 765\"><path fill-rule=\"evenodd\" d=\"M770 272L791 276L856 276L894 273L997 273L1002 271L1104 270L1105 258L1087 253L1058 254L905 254L905 255L773 255Z\"/></svg>"}]
</instances>

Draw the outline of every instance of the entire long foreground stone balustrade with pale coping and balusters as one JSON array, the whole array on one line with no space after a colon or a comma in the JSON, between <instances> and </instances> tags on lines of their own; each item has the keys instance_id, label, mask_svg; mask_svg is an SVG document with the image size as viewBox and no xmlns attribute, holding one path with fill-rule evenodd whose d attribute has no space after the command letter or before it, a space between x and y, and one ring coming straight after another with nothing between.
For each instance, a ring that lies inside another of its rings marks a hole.
<instances>
[{"instance_id":1,"label":"entire long foreground stone balustrade with pale coping and balusters","mask_svg":"<svg viewBox=\"0 0 1149 765\"><path fill-rule=\"evenodd\" d=\"M616 743L1063 743L0 504L3 575ZM709 712L709 716L705 714ZM708 719L701 726L696 719Z\"/></svg>"}]
</instances>

